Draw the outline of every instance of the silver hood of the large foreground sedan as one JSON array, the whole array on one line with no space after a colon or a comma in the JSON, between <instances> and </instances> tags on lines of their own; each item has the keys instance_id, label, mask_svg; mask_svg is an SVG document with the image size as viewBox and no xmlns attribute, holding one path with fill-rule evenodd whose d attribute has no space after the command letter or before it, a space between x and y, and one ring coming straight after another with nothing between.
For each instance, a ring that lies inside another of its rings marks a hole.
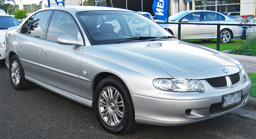
<instances>
[{"instance_id":1,"label":"silver hood of the large foreground sedan","mask_svg":"<svg viewBox=\"0 0 256 139\"><path fill-rule=\"evenodd\" d=\"M241 70L238 66L240 62L219 51L180 40L99 46L151 64L173 78L205 79L230 75ZM222 71L224 68L228 73Z\"/></svg>"}]
</instances>

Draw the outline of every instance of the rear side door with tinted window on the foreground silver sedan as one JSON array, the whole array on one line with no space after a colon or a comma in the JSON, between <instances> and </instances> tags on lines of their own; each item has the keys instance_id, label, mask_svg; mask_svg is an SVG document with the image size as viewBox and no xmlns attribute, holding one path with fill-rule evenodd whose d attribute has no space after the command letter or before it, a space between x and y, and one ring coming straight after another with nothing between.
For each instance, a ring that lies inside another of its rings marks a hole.
<instances>
[{"instance_id":1,"label":"rear side door with tinted window on the foreground silver sedan","mask_svg":"<svg viewBox=\"0 0 256 139\"><path fill-rule=\"evenodd\" d=\"M52 10L38 12L22 26L17 39L16 52L24 68L25 75L40 80L39 49L43 40L46 24Z\"/></svg>"}]
</instances>

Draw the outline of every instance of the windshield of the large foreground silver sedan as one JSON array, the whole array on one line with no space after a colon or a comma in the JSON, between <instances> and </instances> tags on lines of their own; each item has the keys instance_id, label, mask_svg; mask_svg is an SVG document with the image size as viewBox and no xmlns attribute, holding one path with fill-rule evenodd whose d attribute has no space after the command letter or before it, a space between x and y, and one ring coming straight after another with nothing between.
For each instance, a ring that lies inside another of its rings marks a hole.
<instances>
[{"instance_id":1,"label":"windshield of the large foreground silver sedan","mask_svg":"<svg viewBox=\"0 0 256 139\"><path fill-rule=\"evenodd\" d=\"M114 44L117 41L134 37L158 38L172 36L160 25L139 13L85 11L79 12L77 15L81 19L93 45Z\"/></svg>"}]
</instances>

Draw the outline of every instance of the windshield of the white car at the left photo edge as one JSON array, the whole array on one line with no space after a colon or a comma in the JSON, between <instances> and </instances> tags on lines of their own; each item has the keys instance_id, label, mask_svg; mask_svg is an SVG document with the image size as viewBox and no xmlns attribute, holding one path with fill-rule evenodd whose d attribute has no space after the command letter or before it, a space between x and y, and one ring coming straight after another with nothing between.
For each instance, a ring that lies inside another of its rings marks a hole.
<instances>
[{"instance_id":1,"label":"windshield of the white car at the left photo edge","mask_svg":"<svg viewBox=\"0 0 256 139\"><path fill-rule=\"evenodd\" d=\"M0 16L0 29L8 29L11 27L19 26L20 22L10 16Z\"/></svg>"}]
</instances>

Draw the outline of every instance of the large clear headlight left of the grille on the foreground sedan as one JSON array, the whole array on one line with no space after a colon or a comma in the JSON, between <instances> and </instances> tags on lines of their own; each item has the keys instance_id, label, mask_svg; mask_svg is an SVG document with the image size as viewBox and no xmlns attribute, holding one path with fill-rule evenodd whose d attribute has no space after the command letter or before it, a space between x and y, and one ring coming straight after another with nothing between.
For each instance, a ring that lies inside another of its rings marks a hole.
<instances>
[{"instance_id":1,"label":"large clear headlight left of the grille on the foreground sedan","mask_svg":"<svg viewBox=\"0 0 256 139\"><path fill-rule=\"evenodd\" d=\"M153 84L157 89L166 91L204 91L204 85L192 79L155 79Z\"/></svg>"}]
</instances>

